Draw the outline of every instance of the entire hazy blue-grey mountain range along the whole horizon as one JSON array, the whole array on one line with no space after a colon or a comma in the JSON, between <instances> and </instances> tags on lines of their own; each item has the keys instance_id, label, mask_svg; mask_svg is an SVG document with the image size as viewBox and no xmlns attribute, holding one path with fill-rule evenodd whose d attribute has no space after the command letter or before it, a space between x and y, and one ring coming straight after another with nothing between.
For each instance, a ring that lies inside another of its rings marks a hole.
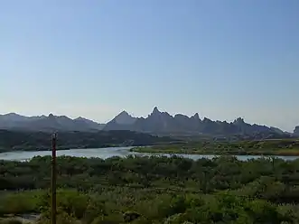
<instances>
[{"instance_id":1,"label":"entire hazy blue-grey mountain range along the whole horizon","mask_svg":"<svg viewBox=\"0 0 299 224\"><path fill-rule=\"evenodd\" d=\"M71 119L66 116L25 117L15 113L0 115L0 129L28 130L28 131L84 131L98 130L130 130L156 135L261 135L261 137L291 135L277 127L248 124L238 117L233 122L212 121L207 117L199 117L196 113L192 117L182 114L171 116L161 112L157 107L148 117L132 117L122 111L107 124L98 124L84 117ZM299 135L296 126L292 135Z\"/></svg>"}]
</instances>

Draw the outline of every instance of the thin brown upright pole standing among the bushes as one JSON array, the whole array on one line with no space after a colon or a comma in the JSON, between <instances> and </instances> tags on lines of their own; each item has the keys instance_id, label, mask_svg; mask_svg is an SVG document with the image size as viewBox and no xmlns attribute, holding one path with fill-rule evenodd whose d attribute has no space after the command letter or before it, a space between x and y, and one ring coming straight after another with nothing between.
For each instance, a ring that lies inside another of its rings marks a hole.
<instances>
[{"instance_id":1,"label":"thin brown upright pole standing among the bushes","mask_svg":"<svg viewBox=\"0 0 299 224\"><path fill-rule=\"evenodd\" d=\"M56 133L51 135L51 224L56 224Z\"/></svg>"}]
</instances>

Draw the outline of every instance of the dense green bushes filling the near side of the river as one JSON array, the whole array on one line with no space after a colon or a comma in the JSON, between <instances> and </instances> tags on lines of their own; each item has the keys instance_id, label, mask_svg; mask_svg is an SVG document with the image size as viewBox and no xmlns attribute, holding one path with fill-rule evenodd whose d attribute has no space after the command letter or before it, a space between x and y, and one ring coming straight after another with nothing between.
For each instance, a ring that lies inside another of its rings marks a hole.
<instances>
[{"instance_id":1,"label":"dense green bushes filling the near side of the river","mask_svg":"<svg viewBox=\"0 0 299 224\"><path fill-rule=\"evenodd\" d=\"M58 223L299 223L299 160L58 158ZM50 223L51 157L0 162L0 217ZM3 219L0 223L18 223Z\"/></svg>"}]
</instances>

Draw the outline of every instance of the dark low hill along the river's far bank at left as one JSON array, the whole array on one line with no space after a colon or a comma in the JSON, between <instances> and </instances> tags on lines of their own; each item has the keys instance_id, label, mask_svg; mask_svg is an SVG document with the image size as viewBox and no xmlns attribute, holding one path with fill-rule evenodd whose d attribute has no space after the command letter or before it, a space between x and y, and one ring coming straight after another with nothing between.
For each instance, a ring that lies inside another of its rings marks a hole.
<instances>
[{"instance_id":1,"label":"dark low hill along the river's far bank at left","mask_svg":"<svg viewBox=\"0 0 299 224\"><path fill-rule=\"evenodd\" d=\"M157 137L131 131L58 133L58 149L157 145L170 141L172 139L169 137ZM51 134L49 133L0 130L0 152L49 150L50 146Z\"/></svg>"}]
</instances>

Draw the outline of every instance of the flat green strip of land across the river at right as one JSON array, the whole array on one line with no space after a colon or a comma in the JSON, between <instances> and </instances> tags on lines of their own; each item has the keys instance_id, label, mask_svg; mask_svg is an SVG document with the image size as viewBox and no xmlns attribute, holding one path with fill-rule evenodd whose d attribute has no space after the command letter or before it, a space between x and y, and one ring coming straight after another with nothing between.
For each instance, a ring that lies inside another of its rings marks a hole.
<instances>
[{"instance_id":1,"label":"flat green strip of land across the river at right","mask_svg":"<svg viewBox=\"0 0 299 224\"><path fill-rule=\"evenodd\" d=\"M299 140L275 139L263 141L216 142L201 141L176 145L135 147L139 153L164 154L248 154L248 155L299 155Z\"/></svg>"}]
</instances>

